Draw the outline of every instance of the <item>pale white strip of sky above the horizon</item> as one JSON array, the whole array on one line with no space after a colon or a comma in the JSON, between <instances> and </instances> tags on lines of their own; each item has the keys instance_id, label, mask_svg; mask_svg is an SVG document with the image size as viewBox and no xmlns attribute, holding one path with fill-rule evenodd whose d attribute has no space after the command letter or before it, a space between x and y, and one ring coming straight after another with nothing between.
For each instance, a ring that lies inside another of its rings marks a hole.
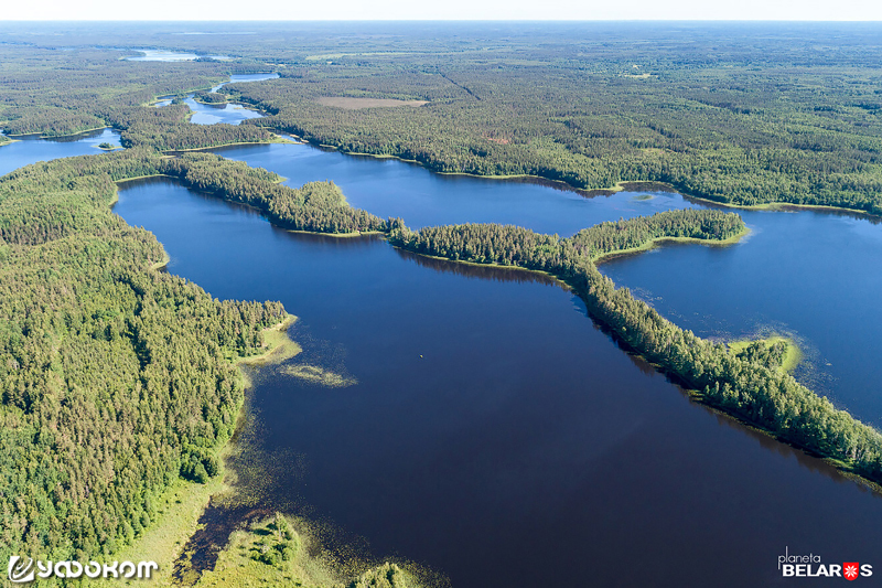
<instances>
[{"instance_id":1,"label":"pale white strip of sky above the horizon","mask_svg":"<svg viewBox=\"0 0 882 588\"><path fill-rule=\"evenodd\" d=\"M882 0L4 0L10 20L882 21ZM252 4L254 6L254 4ZM246 7L246 8L243 8Z\"/></svg>"}]
</instances>

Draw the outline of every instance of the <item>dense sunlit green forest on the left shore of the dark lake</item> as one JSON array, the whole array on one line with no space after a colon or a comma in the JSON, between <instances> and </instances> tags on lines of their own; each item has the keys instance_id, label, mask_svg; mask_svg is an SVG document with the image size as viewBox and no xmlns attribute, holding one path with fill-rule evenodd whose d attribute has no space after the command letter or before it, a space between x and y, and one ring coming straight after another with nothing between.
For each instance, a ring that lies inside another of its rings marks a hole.
<instances>
[{"instance_id":1,"label":"dense sunlit green forest on the left shore of the dark lake","mask_svg":"<svg viewBox=\"0 0 882 588\"><path fill-rule=\"evenodd\" d=\"M162 247L109 204L115 180L159 161L130 150L0 180L3 557L116 552L179 475L215 474L243 402L230 360L286 316L149 269Z\"/></svg>"}]
</instances>

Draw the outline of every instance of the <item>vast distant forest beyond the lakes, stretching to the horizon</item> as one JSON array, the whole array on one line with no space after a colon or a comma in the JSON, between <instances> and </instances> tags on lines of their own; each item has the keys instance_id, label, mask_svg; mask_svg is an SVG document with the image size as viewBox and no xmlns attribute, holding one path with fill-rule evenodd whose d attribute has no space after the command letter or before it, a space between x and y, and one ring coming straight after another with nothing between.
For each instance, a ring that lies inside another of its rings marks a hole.
<instances>
[{"instance_id":1,"label":"vast distant forest beyond the lakes, stretching to the horizon","mask_svg":"<svg viewBox=\"0 0 882 588\"><path fill-rule=\"evenodd\" d=\"M228 130L228 142L261 140L245 129L269 127L435 171L530 174L585 189L654 181L738 205L882 213L882 44L871 28L560 23L466 26L453 38L437 23L387 24L396 34L380 26L374 35L341 26L176 38L175 49L237 55L189 63L126 62L96 49L136 39L150 46L163 33L106 30L99 42L35 32L29 45L0 46L0 127L65 135L107 124L128 129L127 145L207 147L209 137L186 125L153 136L132 118L147 116L138 107L155 96L278 71L280 79L222 88L272 115ZM327 97L356 101L320 101ZM358 98L428 104L362 108Z\"/></svg>"}]
</instances>

